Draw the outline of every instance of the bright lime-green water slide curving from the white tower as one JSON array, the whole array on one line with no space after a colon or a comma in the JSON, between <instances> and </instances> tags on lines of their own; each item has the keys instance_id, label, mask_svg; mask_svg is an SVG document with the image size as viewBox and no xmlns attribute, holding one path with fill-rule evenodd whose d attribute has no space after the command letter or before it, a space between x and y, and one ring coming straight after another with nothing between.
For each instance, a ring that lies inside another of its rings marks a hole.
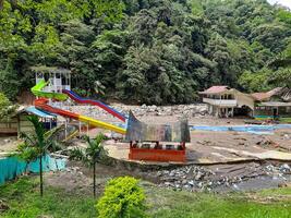
<instances>
[{"instance_id":1,"label":"bright lime-green water slide curving from the white tower","mask_svg":"<svg viewBox=\"0 0 291 218\"><path fill-rule=\"evenodd\" d=\"M43 90L44 87L48 85L49 82L45 80L39 81L34 87L32 87L32 93L35 96L44 97L44 98L52 98L57 100L66 100L68 96L62 93L46 93Z\"/></svg>"}]
</instances>

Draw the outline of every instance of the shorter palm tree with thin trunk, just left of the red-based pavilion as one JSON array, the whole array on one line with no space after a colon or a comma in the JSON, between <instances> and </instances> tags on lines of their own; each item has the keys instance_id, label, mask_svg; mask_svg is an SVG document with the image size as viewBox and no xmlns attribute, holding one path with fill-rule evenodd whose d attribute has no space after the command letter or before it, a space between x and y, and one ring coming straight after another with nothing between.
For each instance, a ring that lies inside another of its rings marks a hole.
<instances>
[{"instance_id":1,"label":"shorter palm tree with thin trunk, just left of the red-based pavilion","mask_svg":"<svg viewBox=\"0 0 291 218\"><path fill-rule=\"evenodd\" d=\"M94 197L96 197L96 164L101 160L106 153L102 146L105 135L99 134L94 140L85 136L85 140L88 145L86 149L74 148L71 150L70 159L81 160L86 166L93 168L93 193Z\"/></svg>"}]
</instances>

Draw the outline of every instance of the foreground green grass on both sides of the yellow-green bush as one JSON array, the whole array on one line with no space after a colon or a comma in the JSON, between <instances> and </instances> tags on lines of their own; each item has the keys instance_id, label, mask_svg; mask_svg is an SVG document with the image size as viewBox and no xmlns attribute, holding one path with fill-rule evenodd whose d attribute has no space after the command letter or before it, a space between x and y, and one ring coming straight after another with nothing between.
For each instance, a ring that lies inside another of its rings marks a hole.
<instances>
[{"instance_id":1,"label":"foreground green grass on both sides of the yellow-green bush","mask_svg":"<svg viewBox=\"0 0 291 218\"><path fill-rule=\"evenodd\" d=\"M148 214L157 218L289 218L291 217L291 189L282 187L256 193L190 193L159 189L143 182L148 201ZM272 197L278 197L275 202ZM35 178L22 178L0 186L0 198L10 209L3 218L34 218L40 216L86 218L96 217L92 196L65 193L46 187L39 196Z\"/></svg>"}]
</instances>

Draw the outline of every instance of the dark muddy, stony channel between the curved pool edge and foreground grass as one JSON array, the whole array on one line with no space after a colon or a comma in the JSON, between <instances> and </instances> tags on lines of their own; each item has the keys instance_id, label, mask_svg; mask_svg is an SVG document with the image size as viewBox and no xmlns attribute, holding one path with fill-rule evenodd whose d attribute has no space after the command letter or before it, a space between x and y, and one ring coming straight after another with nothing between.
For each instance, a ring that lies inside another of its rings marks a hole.
<instances>
[{"instance_id":1,"label":"dark muddy, stony channel between the curved pool edge and foreground grass","mask_svg":"<svg viewBox=\"0 0 291 218\"><path fill-rule=\"evenodd\" d=\"M186 166L166 169L97 165L97 191L102 193L108 180L131 175L159 187L189 192L257 191L291 185L291 165L280 162L246 162L235 165ZM65 182L63 182L65 181ZM90 193L93 171L80 162L69 162L63 171L45 175L47 185L66 192Z\"/></svg>"}]
</instances>

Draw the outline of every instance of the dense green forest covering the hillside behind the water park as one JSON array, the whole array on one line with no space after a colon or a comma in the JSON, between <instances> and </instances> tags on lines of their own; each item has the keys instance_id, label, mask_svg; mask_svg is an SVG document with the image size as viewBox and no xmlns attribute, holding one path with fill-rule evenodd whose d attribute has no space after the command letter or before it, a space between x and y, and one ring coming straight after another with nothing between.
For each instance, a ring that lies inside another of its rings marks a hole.
<instances>
[{"instance_id":1,"label":"dense green forest covering the hillside behind the water park","mask_svg":"<svg viewBox=\"0 0 291 218\"><path fill-rule=\"evenodd\" d=\"M291 86L291 13L266 0L2 0L0 24L11 100L34 85L33 66L71 70L81 95L136 104Z\"/></svg>"}]
</instances>

